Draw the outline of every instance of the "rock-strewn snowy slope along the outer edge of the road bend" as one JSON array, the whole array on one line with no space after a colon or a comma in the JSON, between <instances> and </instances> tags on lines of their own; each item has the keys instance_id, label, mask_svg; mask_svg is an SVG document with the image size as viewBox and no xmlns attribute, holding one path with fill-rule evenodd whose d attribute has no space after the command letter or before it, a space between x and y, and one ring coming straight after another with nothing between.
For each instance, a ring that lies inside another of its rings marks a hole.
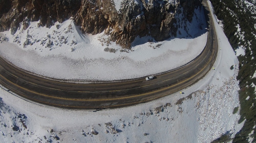
<instances>
[{"instance_id":1,"label":"rock-strewn snowy slope along the outer edge of the road bend","mask_svg":"<svg viewBox=\"0 0 256 143\"><path fill-rule=\"evenodd\" d=\"M243 125L237 123L239 112L232 113L240 108L238 60L217 20L215 25L221 48L215 70L184 94L93 112L44 106L0 89L0 141L210 142L226 133L234 137Z\"/></svg>"}]
</instances>

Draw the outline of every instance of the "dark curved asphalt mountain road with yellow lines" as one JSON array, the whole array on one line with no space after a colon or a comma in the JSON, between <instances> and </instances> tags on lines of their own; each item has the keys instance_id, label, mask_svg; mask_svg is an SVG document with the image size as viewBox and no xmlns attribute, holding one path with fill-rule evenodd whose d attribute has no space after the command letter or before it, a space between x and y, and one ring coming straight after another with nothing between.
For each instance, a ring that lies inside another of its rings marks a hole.
<instances>
[{"instance_id":1,"label":"dark curved asphalt mountain road with yellow lines","mask_svg":"<svg viewBox=\"0 0 256 143\"><path fill-rule=\"evenodd\" d=\"M206 47L190 64L156 79L90 84L60 82L24 72L0 57L0 84L31 101L71 109L117 108L172 94L201 79L216 60L218 42L214 23L205 1L203 5L208 28Z\"/></svg>"}]
</instances>

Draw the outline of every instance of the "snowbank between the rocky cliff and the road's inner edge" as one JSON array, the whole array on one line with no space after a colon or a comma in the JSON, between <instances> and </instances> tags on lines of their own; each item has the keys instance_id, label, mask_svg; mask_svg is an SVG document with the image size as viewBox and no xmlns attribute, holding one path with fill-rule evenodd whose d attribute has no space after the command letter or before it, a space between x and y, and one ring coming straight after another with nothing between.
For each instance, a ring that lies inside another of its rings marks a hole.
<instances>
[{"instance_id":1,"label":"snowbank between the rocky cliff and the road's inner edge","mask_svg":"<svg viewBox=\"0 0 256 143\"><path fill-rule=\"evenodd\" d=\"M27 71L59 79L120 80L166 72L193 60L207 41L205 18L199 9L193 22L187 23L192 37L181 27L176 38L162 42L137 37L131 50L121 49L104 33L82 34L71 19L51 28L37 27L37 23L30 22L27 30L21 26L14 35L1 33L9 41L0 44L0 54ZM107 47L115 53L104 51Z\"/></svg>"}]
</instances>

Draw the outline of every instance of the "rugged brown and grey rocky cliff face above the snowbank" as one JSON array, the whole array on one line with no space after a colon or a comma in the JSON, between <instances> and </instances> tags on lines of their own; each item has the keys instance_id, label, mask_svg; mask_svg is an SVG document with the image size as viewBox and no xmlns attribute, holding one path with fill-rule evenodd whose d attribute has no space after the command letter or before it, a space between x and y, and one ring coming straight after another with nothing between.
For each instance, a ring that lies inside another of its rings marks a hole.
<instances>
[{"instance_id":1,"label":"rugged brown and grey rocky cliff face above the snowbank","mask_svg":"<svg viewBox=\"0 0 256 143\"><path fill-rule=\"evenodd\" d=\"M179 21L191 21L200 0L0 0L0 31L26 29L30 21L51 27L56 21L73 17L84 33L105 32L110 40L130 48L136 36L152 36L157 41L176 36Z\"/></svg>"}]
</instances>

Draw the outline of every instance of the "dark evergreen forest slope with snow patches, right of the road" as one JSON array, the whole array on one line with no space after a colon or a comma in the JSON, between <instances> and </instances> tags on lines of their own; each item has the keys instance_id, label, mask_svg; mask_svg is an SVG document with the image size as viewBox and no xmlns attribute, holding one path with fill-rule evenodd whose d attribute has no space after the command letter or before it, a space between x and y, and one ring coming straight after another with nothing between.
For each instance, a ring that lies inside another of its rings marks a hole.
<instances>
[{"instance_id":1,"label":"dark evergreen forest slope with snow patches, right of the road","mask_svg":"<svg viewBox=\"0 0 256 143\"><path fill-rule=\"evenodd\" d=\"M239 55L240 84L239 101L241 105L239 123L244 122L242 129L235 135L232 142L256 142L256 4L255 0L210 0L215 14L223 23L233 50L239 46L245 49L244 56ZM255 57L255 58L254 58ZM246 100L247 97L250 97ZM251 134L252 131L254 134ZM250 135L251 134L251 135Z\"/></svg>"}]
</instances>

